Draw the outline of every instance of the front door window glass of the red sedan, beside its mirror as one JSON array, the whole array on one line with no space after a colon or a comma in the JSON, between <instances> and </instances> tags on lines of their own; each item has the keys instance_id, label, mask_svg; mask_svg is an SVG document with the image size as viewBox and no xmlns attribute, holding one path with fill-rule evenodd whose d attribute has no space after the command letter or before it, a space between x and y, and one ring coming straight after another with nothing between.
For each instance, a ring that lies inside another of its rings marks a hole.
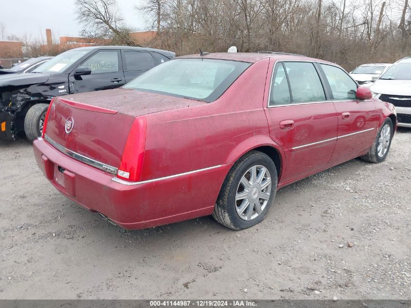
<instances>
[{"instance_id":1,"label":"front door window glass of the red sedan, beside its mirror","mask_svg":"<svg viewBox=\"0 0 411 308\"><path fill-rule=\"evenodd\" d=\"M357 99L357 84L338 67L320 64L331 87L334 99Z\"/></svg>"}]
</instances>

